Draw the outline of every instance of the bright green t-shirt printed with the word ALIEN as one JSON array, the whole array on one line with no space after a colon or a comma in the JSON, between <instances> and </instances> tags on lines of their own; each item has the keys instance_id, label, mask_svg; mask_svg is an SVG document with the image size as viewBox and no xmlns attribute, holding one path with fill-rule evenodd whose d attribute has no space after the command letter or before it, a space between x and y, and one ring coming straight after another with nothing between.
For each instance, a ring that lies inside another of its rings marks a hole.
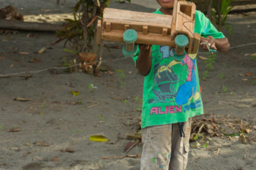
<instances>
[{"instance_id":1,"label":"bright green t-shirt printed with the word ALIEN","mask_svg":"<svg viewBox=\"0 0 256 170\"><path fill-rule=\"evenodd\" d=\"M154 13L163 14L157 9ZM195 32L203 37L224 38L205 15L196 11ZM133 59L136 64L139 49ZM186 54L182 62L172 56L169 46L152 45L151 70L144 78L141 127L186 122L203 114L196 54Z\"/></svg>"}]
</instances>

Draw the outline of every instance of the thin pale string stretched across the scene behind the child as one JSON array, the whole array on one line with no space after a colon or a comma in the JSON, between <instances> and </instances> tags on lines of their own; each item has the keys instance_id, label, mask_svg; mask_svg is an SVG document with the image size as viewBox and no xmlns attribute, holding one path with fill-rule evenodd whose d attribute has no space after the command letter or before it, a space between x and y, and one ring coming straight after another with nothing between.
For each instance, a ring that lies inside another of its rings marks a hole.
<instances>
[{"instance_id":1,"label":"thin pale string stretched across the scene behind the child","mask_svg":"<svg viewBox=\"0 0 256 170\"><path fill-rule=\"evenodd\" d=\"M248 43L248 44L243 44L243 45L237 45L235 47L230 47L229 49L238 48L238 47L247 46L247 45L256 45L256 43ZM218 51L216 51L216 52L218 52ZM198 54L206 54L206 53L209 54L209 52L198 52ZM123 57L123 58L119 58L119 59L104 60L104 61L101 61L101 62L114 62L114 61L119 61L119 60L122 60L122 59L127 59L127 57ZM94 63L96 63L96 62L90 62L90 63L86 63L86 64L94 64ZM67 68L75 67L75 66L78 66L78 65L79 64L74 64L74 65L70 65L70 66L67 66L67 67L49 67L49 68L45 68L45 69L38 70L38 71L23 71L23 72L19 72L19 73L2 74L2 75L0 75L0 77L15 76L15 75L20 75L20 74L36 74L36 73L40 73L40 72L51 70L51 69L67 69Z\"/></svg>"}]
</instances>

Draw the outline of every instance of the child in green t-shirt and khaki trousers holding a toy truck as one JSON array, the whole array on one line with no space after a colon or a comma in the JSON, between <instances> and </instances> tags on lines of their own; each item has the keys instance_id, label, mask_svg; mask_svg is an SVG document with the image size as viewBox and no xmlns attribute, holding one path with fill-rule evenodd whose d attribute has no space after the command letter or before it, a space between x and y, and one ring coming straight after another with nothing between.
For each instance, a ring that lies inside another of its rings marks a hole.
<instances>
[{"instance_id":1,"label":"child in green t-shirt and khaki trousers holding a toy truck","mask_svg":"<svg viewBox=\"0 0 256 170\"><path fill-rule=\"evenodd\" d=\"M161 8L154 13L172 15L174 1L157 0ZM212 49L230 47L200 11L195 14L195 32ZM203 114L196 54L186 54L182 62L176 62L168 46L140 44L139 49L133 59L139 74L145 76L141 170L185 170L191 117Z\"/></svg>"}]
</instances>

